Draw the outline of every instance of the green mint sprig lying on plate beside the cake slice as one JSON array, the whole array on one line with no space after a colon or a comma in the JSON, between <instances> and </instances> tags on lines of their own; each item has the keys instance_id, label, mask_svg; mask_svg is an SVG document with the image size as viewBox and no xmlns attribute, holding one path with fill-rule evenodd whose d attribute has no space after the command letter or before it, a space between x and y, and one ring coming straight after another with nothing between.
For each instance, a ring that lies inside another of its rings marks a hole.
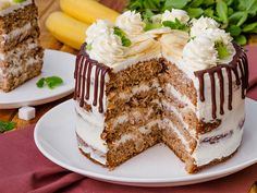
<instances>
[{"instance_id":1,"label":"green mint sprig lying on plate beside the cake slice","mask_svg":"<svg viewBox=\"0 0 257 193\"><path fill-rule=\"evenodd\" d=\"M53 89L63 84L63 80L59 76L41 77L37 83L37 87L42 88L47 85L50 89Z\"/></svg>"}]
</instances>

